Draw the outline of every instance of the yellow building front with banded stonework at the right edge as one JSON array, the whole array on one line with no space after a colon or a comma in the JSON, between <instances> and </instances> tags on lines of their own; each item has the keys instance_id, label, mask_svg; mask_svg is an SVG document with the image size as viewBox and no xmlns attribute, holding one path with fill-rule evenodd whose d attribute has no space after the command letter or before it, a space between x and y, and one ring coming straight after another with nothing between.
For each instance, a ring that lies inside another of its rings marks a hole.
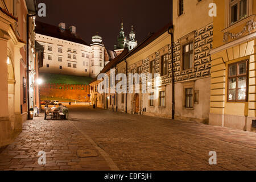
<instances>
[{"instance_id":1,"label":"yellow building front with banded stonework at the right edge","mask_svg":"<svg viewBox=\"0 0 256 182\"><path fill-rule=\"evenodd\" d=\"M254 0L214 0L209 124L256 131Z\"/></svg>"}]
</instances>

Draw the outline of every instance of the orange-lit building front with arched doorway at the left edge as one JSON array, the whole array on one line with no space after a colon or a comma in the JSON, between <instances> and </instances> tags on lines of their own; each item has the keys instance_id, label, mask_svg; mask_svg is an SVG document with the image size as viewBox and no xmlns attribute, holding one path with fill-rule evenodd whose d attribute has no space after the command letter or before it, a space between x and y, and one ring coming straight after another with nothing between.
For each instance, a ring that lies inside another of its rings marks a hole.
<instances>
[{"instance_id":1,"label":"orange-lit building front with arched doorway at the left edge","mask_svg":"<svg viewBox=\"0 0 256 182\"><path fill-rule=\"evenodd\" d=\"M0 1L0 147L13 140L28 118L28 70L33 64L35 1ZM27 25L30 24L31 26ZM35 49L34 49L35 50Z\"/></svg>"}]
</instances>

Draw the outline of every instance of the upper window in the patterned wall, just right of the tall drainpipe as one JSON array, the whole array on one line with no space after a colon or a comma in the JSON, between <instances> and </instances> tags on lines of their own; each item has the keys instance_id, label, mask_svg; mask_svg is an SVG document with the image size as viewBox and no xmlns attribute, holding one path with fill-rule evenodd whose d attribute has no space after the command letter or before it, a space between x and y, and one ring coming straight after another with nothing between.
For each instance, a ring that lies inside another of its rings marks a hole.
<instances>
[{"instance_id":1,"label":"upper window in the patterned wall, just right of the tall drainpipe","mask_svg":"<svg viewBox=\"0 0 256 182\"><path fill-rule=\"evenodd\" d=\"M189 43L183 46L183 70L193 67L194 60L194 44Z\"/></svg>"}]
</instances>

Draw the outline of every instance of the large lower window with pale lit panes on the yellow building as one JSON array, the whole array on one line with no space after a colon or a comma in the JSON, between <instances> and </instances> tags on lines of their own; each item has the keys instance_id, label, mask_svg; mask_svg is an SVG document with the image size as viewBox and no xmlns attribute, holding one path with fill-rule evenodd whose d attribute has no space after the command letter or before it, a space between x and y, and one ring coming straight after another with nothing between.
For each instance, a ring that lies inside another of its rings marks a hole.
<instances>
[{"instance_id":1,"label":"large lower window with pale lit panes on the yellow building","mask_svg":"<svg viewBox=\"0 0 256 182\"><path fill-rule=\"evenodd\" d=\"M247 60L228 68L228 101L247 100Z\"/></svg>"}]
</instances>

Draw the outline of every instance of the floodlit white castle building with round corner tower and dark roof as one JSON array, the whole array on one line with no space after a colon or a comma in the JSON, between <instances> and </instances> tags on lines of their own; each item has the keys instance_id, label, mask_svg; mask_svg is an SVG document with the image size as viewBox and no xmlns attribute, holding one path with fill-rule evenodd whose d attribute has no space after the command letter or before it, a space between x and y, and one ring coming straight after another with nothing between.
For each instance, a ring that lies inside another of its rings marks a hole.
<instances>
[{"instance_id":1,"label":"floodlit white castle building with round corner tower and dark roof","mask_svg":"<svg viewBox=\"0 0 256 182\"><path fill-rule=\"evenodd\" d=\"M44 47L40 72L96 77L105 66L101 36L93 36L89 45L76 34L75 26L36 22L36 41Z\"/></svg>"}]
</instances>

